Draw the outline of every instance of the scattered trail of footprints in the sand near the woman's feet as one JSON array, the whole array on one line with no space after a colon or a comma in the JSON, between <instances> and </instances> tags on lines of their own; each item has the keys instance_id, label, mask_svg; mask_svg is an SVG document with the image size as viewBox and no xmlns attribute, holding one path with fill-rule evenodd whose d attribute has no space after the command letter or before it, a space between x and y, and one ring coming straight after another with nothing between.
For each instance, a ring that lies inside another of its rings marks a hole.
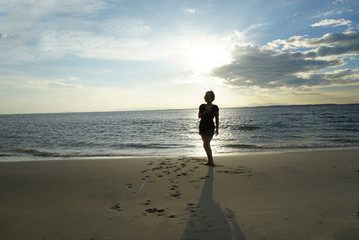
<instances>
[{"instance_id":1,"label":"scattered trail of footprints in the sand near the woman's feet","mask_svg":"<svg viewBox=\"0 0 359 240\"><path fill-rule=\"evenodd\" d=\"M177 160L167 158L163 160L158 160L156 162L151 161L147 164L148 168L141 171L141 174L143 175L142 180L148 183L155 183L157 180L166 181L168 185L168 192L165 197L180 199L182 196L182 192L180 191L179 180L185 178L185 180L187 180L188 183L190 183L194 189L199 189L203 185L203 182L209 177L208 175L194 177L194 175L198 175L194 174L198 168L208 168L208 166L205 166L204 163L206 163L205 160L194 157L180 157ZM238 166L236 168L225 168L222 165L216 165L215 171L224 174L244 174L247 177L252 176L252 169L245 166ZM128 189L134 188L132 183L127 183L126 187ZM140 188L139 191L142 191L142 189ZM145 202L139 204L143 206L150 206L152 204L152 200L148 199ZM195 212L197 208L200 208L200 206L194 203L186 203L186 205L187 210L189 210L191 213ZM120 203L116 203L110 209L118 212L122 210ZM168 209L147 208L144 210L142 215L165 216L166 210ZM166 216L168 218L176 217L175 215Z\"/></svg>"}]
</instances>

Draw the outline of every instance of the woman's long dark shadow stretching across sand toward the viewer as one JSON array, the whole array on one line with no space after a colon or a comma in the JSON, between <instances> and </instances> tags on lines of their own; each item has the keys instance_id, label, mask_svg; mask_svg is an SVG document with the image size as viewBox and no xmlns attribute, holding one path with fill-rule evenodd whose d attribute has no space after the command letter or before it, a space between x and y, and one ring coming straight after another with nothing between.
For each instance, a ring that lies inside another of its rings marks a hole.
<instances>
[{"instance_id":1,"label":"woman's long dark shadow stretching across sand toward the viewer","mask_svg":"<svg viewBox=\"0 0 359 240\"><path fill-rule=\"evenodd\" d=\"M213 167L209 167L198 204L188 204L190 217L181 239L245 240L233 211L223 211L214 201L213 182Z\"/></svg>"}]
</instances>

